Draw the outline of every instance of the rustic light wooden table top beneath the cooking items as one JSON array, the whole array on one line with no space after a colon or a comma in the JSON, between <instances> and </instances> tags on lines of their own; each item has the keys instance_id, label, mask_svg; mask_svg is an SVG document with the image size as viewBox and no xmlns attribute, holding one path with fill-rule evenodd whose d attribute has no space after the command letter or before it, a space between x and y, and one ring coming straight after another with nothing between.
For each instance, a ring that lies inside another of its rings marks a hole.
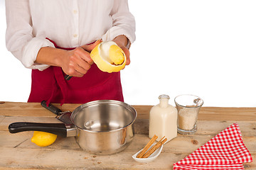
<instances>
[{"instance_id":1,"label":"rustic light wooden table top beneath the cooking items","mask_svg":"<svg viewBox=\"0 0 256 170\"><path fill-rule=\"evenodd\" d=\"M73 111L79 104L55 106L63 111ZM138 116L134 123L136 134L132 144L118 154L95 155L82 151L74 137L58 137L53 145L38 147L31 142L33 132L9 133L9 124L18 121L59 121L40 103L0 102L0 169L172 169L175 162L236 122L240 125L243 140L254 160L245 163L245 169L256 169L256 108L201 108L196 134L178 135L164 145L157 159L149 163L135 162L132 154L149 142L151 106L134 108Z\"/></svg>"}]
</instances>

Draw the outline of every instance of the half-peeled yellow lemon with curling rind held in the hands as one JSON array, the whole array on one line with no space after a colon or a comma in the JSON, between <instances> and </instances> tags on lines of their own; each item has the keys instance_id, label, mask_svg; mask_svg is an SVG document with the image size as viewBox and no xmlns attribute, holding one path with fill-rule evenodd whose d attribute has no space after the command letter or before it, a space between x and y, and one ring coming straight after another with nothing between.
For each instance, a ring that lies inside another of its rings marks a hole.
<instances>
[{"instance_id":1,"label":"half-peeled yellow lemon with curling rind held in the hands","mask_svg":"<svg viewBox=\"0 0 256 170\"><path fill-rule=\"evenodd\" d=\"M124 69L126 56L124 51L113 41L101 42L97 45L90 57L102 72L119 72Z\"/></svg>"}]
</instances>

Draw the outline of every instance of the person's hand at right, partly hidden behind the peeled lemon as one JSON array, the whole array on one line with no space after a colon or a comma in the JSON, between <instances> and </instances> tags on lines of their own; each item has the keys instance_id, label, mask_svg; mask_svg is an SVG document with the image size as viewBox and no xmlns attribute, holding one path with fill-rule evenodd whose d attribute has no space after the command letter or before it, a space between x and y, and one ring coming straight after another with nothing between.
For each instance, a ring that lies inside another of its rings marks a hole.
<instances>
[{"instance_id":1,"label":"person's hand at right, partly hidden behind the peeled lemon","mask_svg":"<svg viewBox=\"0 0 256 170\"><path fill-rule=\"evenodd\" d=\"M124 54L127 57L126 65L129 65L131 61L129 57L129 50L126 47L129 41L128 38L125 35L118 35L113 41L116 42L117 45L124 51Z\"/></svg>"}]
</instances>

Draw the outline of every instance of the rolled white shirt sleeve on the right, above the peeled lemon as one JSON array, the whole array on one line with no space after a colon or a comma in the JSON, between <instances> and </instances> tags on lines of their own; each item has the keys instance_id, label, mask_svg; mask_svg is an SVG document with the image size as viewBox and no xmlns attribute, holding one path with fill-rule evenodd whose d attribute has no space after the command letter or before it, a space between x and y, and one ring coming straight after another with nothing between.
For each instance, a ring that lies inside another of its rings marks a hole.
<instances>
[{"instance_id":1,"label":"rolled white shirt sleeve on the right, above the peeled lemon","mask_svg":"<svg viewBox=\"0 0 256 170\"><path fill-rule=\"evenodd\" d=\"M113 26L103 35L102 40L114 40L118 35L125 35L129 42L136 39L135 20L132 13L129 12L127 0L114 0L114 6L111 11Z\"/></svg>"}]
</instances>

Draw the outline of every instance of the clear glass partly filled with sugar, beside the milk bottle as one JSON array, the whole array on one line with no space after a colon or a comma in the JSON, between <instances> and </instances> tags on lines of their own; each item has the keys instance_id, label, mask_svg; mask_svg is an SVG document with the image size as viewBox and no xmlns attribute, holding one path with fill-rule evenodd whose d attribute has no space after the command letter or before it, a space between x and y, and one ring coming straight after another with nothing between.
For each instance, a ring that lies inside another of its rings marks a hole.
<instances>
[{"instance_id":1,"label":"clear glass partly filled with sugar, beside the milk bottle","mask_svg":"<svg viewBox=\"0 0 256 170\"><path fill-rule=\"evenodd\" d=\"M202 98L183 94L174 98L178 110L178 133L189 135L196 132L198 113L203 106Z\"/></svg>"}]
</instances>

